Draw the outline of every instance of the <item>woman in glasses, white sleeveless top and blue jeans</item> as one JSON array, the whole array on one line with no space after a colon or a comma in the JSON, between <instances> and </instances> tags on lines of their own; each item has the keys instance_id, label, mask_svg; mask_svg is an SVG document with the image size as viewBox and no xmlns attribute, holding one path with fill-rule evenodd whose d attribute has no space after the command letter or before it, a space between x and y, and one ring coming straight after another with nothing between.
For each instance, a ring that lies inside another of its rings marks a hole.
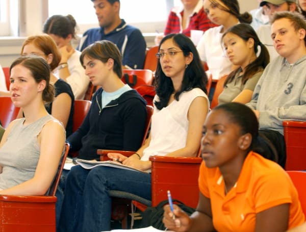
<instances>
[{"instance_id":1,"label":"woman in glasses, white sleeveless top and blue jeans","mask_svg":"<svg viewBox=\"0 0 306 232\"><path fill-rule=\"evenodd\" d=\"M192 41L183 34L165 36L159 46L156 96L151 131L131 157L110 153L124 165L149 171L149 156L195 156L201 127L209 109L207 77ZM83 58L81 56L81 58ZM89 60L83 58L86 70ZM151 198L151 176L112 167L84 169L77 165L67 177L60 231L110 229L110 190ZM77 204L75 202L78 202Z\"/></svg>"}]
</instances>

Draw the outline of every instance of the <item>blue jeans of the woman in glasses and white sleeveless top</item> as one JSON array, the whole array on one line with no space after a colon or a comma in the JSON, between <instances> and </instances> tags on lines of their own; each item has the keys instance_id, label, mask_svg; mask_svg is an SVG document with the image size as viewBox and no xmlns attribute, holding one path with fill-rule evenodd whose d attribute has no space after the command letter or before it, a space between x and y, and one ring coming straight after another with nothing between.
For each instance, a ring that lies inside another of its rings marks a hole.
<instances>
[{"instance_id":1,"label":"blue jeans of the woman in glasses and white sleeveless top","mask_svg":"<svg viewBox=\"0 0 306 232\"><path fill-rule=\"evenodd\" d=\"M112 167L84 169L74 166L67 176L59 231L110 230L110 190L150 200L151 175Z\"/></svg>"}]
</instances>

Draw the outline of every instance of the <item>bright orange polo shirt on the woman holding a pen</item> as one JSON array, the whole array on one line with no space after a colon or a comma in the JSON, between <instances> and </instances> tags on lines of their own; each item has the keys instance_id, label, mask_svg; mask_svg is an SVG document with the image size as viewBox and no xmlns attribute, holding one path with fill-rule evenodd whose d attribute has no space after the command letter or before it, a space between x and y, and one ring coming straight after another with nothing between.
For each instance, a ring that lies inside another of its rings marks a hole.
<instances>
[{"instance_id":1,"label":"bright orange polo shirt on the woman holding a pen","mask_svg":"<svg viewBox=\"0 0 306 232\"><path fill-rule=\"evenodd\" d=\"M236 185L225 196L219 168L201 163L200 192L210 198L217 231L254 231L256 214L290 203L289 227L305 221L297 191L286 171L260 154L249 152Z\"/></svg>"}]
</instances>

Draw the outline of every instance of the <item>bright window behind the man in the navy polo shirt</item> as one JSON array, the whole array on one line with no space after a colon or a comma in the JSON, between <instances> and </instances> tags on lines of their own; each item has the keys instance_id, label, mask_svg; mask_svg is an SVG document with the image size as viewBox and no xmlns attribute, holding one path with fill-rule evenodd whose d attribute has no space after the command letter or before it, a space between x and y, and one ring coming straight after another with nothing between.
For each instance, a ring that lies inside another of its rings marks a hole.
<instances>
[{"instance_id":1,"label":"bright window behind the man in the navy polo shirt","mask_svg":"<svg viewBox=\"0 0 306 232\"><path fill-rule=\"evenodd\" d=\"M121 0L120 17L143 33L163 32L170 9L180 4L181 0ZM80 33L88 28L98 27L93 4L89 0L82 4L77 4L75 0L49 0L48 9L49 16L71 14L79 25Z\"/></svg>"}]
</instances>

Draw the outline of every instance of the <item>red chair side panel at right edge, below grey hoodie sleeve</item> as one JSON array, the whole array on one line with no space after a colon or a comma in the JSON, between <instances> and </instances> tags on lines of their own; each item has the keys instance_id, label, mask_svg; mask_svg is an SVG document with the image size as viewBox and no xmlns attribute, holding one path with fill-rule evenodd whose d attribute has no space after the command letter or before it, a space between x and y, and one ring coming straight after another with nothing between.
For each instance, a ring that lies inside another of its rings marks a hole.
<instances>
[{"instance_id":1,"label":"red chair side panel at right edge, below grey hoodie sleeve","mask_svg":"<svg viewBox=\"0 0 306 232\"><path fill-rule=\"evenodd\" d=\"M287 171L306 170L306 121L283 121Z\"/></svg>"}]
</instances>

